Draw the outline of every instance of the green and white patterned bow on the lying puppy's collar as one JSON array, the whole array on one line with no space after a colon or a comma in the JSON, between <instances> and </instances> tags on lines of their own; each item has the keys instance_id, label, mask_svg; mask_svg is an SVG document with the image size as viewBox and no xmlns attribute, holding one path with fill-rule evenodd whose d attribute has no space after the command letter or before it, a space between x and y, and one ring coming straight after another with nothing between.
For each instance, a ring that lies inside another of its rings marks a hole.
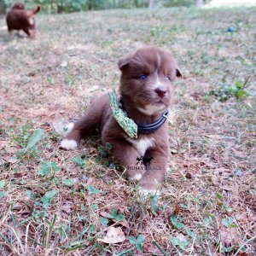
<instances>
[{"instance_id":1,"label":"green and white patterned bow on the lying puppy's collar","mask_svg":"<svg viewBox=\"0 0 256 256\"><path fill-rule=\"evenodd\" d=\"M137 125L132 119L127 118L124 111L121 108L119 108L115 90L113 90L112 93L108 93L108 96L109 104L113 111L113 118L116 119L116 121L128 134L129 137L137 138Z\"/></svg>"}]
</instances>

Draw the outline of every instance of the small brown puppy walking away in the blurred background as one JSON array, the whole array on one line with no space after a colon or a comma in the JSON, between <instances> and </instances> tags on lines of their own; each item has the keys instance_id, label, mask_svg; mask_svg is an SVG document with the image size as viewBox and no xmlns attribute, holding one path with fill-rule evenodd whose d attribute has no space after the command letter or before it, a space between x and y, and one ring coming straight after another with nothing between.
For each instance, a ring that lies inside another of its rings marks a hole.
<instances>
[{"instance_id":1,"label":"small brown puppy walking away in the blurred background","mask_svg":"<svg viewBox=\"0 0 256 256\"><path fill-rule=\"evenodd\" d=\"M26 34L33 38L35 36L35 19L41 7L38 5L32 10L26 10L24 3L15 3L6 15L6 23L8 31L23 30Z\"/></svg>"}]
</instances>

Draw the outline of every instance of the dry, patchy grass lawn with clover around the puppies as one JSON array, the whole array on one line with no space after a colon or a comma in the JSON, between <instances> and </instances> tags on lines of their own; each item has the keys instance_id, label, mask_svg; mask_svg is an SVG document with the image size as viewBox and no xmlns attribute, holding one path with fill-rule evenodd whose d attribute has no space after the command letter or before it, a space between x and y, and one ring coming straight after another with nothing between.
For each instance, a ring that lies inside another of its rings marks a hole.
<instances>
[{"instance_id":1,"label":"dry, patchy grass lawn with clover around the puppies","mask_svg":"<svg viewBox=\"0 0 256 256\"><path fill-rule=\"evenodd\" d=\"M255 255L255 10L38 15L36 40L9 38L2 19L1 255ZM99 137L67 152L55 131L118 85L119 57L140 44L183 72L170 171L147 200ZM125 241L97 241L109 226Z\"/></svg>"}]
</instances>

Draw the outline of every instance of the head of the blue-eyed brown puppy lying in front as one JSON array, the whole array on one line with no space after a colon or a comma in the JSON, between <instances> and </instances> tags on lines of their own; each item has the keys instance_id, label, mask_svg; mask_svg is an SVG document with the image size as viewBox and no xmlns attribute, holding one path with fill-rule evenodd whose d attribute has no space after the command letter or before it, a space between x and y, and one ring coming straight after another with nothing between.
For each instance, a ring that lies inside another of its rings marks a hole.
<instances>
[{"instance_id":1,"label":"head of the blue-eyed brown puppy lying in front","mask_svg":"<svg viewBox=\"0 0 256 256\"><path fill-rule=\"evenodd\" d=\"M128 96L140 112L152 115L171 105L173 81L182 75L166 50L143 47L121 58L118 65L122 73L120 93Z\"/></svg>"}]
</instances>

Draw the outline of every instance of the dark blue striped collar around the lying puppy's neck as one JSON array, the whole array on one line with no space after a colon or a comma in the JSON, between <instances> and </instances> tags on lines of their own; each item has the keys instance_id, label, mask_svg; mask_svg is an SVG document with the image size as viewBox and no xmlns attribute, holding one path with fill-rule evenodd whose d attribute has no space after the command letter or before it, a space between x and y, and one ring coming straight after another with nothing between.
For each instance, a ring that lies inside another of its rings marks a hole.
<instances>
[{"instance_id":1,"label":"dark blue striped collar around the lying puppy's neck","mask_svg":"<svg viewBox=\"0 0 256 256\"><path fill-rule=\"evenodd\" d=\"M127 113L125 112L125 109L123 108L123 102L121 96L119 97L119 108L121 108L125 115L127 116ZM154 131L157 131L161 125L163 125L166 122L167 115L169 114L169 110L166 109L164 113L161 114L160 119L156 120L154 123L150 123L148 125L140 125L137 124L137 133L138 134L149 134L153 133Z\"/></svg>"}]
</instances>

